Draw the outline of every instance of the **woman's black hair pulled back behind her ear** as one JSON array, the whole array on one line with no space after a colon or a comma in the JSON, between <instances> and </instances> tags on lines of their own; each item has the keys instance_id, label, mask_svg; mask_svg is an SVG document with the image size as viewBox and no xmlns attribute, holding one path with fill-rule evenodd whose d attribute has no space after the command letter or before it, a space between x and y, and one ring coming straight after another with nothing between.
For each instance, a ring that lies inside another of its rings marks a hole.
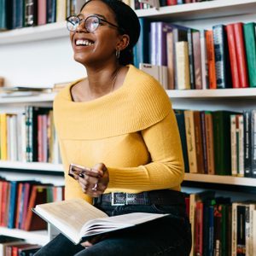
<instances>
[{"instance_id":1,"label":"woman's black hair pulled back behind her ear","mask_svg":"<svg viewBox=\"0 0 256 256\"><path fill-rule=\"evenodd\" d=\"M93 0L89 0L82 6L81 10L87 3ZM119 34L127 34L130 37L129 45L120 52L119 63L121 65L127 65L133 63L133 47L137 44L137 40L140 36L141 26L136 13L131 7L120 0L100 0L106 3L110 9L113 10L115 19L119 26Z\"/></svg>"}]
</instances>

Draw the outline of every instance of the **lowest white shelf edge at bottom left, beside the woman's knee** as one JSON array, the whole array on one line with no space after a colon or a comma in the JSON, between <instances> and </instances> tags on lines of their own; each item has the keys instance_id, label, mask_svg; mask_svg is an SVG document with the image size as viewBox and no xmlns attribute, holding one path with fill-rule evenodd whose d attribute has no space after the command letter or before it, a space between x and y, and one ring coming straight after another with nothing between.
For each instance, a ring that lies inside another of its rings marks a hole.
<instances>
[{"instance_id":1,"label":"lowest white shelf edge at bottom left, beside the woman's knee","mask_svg":"<svg viewBox=\"0 0 256 256\"><path fill-rule=\"evenodd\" d=\"M25 239L31 243L38 243L44 245L49 241L49 235L47 230L38 231L25 231L25 230L15 230L0 227L0 234L4 236L15 236L18 238Z\"/></svg>"}]
</instances>

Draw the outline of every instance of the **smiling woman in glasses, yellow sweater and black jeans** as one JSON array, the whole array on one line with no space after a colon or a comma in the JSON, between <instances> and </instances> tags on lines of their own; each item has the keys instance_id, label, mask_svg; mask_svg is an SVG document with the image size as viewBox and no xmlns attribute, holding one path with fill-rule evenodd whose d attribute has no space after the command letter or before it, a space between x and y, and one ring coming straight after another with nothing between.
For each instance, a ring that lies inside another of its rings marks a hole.
<instances>
[{"instance_id":1,"label":"smiling woman in glasses, yellow sweater and black jeans","mask_svg":"<svg viewBox=\"0 0 256 256\"><path fill-rule=\"evenodd\" d=\"M189 255L175 115L161 85L131 65L137 15L120 1L91 0L67 18L67 28L74 59L88 77L67 86L54 102L66 199L84 198L109 216L171 214L78 246L59 235L36 255Z\"/></svg>"}]
</instances>

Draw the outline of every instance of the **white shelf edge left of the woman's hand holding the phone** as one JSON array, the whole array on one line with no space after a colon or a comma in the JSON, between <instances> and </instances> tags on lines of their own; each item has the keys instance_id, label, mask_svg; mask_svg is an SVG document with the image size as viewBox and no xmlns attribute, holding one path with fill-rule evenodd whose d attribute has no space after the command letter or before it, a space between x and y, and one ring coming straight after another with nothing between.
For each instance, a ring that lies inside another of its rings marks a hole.
<instances>
[{"instance_id":1,"label":"white shelf edge left of the woman's hand holding the phone","mask_svg":"<svg viewBox=\"0 0 256 256\"><path fill-rule=\"evenodd\" d=\"M63 172L63 166L61 164L49 164L49 163L38 163L38 162L28 163L28 162L0 160L0 168L47 171L47 172Z\"/></svg>"}]
</instances>

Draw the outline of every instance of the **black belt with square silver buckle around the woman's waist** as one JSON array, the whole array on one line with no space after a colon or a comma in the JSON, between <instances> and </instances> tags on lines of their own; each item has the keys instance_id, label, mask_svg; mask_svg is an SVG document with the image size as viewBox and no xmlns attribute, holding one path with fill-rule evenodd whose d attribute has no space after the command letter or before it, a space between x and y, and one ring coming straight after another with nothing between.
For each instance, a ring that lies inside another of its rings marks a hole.
<instances>
[{"instance_id":1,"label":"black belt with square silver buckle around the woman's waist","mask_svg":"<svg viewBox=\"0 0 256 256\"><path fill-rule=\"evenodd\" d=\"M107 203L112 206L124 205L180 205L184 204L184 195L180 191L160 189L137 194L113 192L94 199L94 204Z\"/></svg>"}]
</instances>

